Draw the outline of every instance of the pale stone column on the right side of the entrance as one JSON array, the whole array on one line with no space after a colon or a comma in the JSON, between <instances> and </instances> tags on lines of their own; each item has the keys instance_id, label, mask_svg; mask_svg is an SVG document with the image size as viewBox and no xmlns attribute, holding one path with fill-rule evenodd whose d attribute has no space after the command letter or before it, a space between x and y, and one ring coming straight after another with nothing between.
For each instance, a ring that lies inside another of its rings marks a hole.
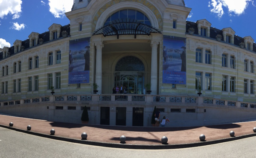
<instances>
[{"instance_id":1,"label":"pale stone column on the right side of the entrance","mask_svg":"<svg viewBox=\"0 0 256 158\"><path fill-rule=\"evenodd\" d=\"M158 41L151 41L151 94L157 94L157 46Z\"/></svg>"}]
</instances>

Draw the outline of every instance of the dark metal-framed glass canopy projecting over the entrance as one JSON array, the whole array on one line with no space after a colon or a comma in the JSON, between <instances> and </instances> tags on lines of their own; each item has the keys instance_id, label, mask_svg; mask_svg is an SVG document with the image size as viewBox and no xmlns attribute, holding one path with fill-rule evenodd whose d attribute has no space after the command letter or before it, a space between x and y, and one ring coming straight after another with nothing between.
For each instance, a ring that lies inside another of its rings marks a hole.
<instances>
[{"instance_id":1,"label":"dark metal-framed glass canopy projecting over the entrance","mask_svg":"<svg viewBox=\"0 0 256 158\"><path fill-rule=\"evenodd\" d=\"M149 36L151 32L161 34L157 28L145 25L135 19L125 18L113 20L109 25L94 31L93 35L103 34L104 37L116 35L119 39L119 35L134 34L134 38L136 38L137 34Z\"/></svg>"}]
</instances>

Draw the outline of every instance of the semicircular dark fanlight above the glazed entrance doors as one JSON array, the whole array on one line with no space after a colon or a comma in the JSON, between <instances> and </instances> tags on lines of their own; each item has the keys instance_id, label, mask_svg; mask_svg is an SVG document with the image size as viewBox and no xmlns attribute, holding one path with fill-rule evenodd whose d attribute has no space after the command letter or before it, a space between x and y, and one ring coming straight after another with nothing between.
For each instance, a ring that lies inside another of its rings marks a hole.
<instances>
[{"instance_id":1,"label":"semicircular dark fanlight above the glazed entrance doors","mask_svg":"<svg viewBox=\"0 0 256 158\"><path fill-rule=\"evenodd\" d=\"M115 71L145 71L145 68L137 57L126 56L117 62Z\"/></svg>"}]
</instances>

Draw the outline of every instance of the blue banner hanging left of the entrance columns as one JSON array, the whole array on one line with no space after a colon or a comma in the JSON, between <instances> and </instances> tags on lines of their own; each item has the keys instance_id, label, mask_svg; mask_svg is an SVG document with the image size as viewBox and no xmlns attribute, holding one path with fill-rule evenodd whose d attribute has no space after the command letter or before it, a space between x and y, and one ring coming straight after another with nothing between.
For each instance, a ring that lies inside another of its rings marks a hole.
<instances>
[{"instance_id":1,"label":"blue banner hanging left of the entrance columns","mask_svg":"<svg viewBox=\"0 0 256 158\"><path fill-rule=\"evenodd\" d=\"M68 84L89 83L90 38L70 41Z\"/></svg>"}]
</instances>

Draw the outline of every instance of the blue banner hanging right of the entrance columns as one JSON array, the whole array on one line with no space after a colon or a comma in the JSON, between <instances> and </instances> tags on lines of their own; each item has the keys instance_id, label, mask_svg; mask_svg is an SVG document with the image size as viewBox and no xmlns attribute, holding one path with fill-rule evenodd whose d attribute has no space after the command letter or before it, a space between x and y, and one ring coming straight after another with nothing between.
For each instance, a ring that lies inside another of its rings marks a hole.
<instances>
[{"instance_id":1,"label":"blue banner hanging right of the entrance columns","mask_svg":"<svg viewBox=\"0 0 256 158\"><path fill-rule=\"evenodd\" d=\"M163 36L163 83L186 84L186 38Z\"/></svg>"}]
</instances>

